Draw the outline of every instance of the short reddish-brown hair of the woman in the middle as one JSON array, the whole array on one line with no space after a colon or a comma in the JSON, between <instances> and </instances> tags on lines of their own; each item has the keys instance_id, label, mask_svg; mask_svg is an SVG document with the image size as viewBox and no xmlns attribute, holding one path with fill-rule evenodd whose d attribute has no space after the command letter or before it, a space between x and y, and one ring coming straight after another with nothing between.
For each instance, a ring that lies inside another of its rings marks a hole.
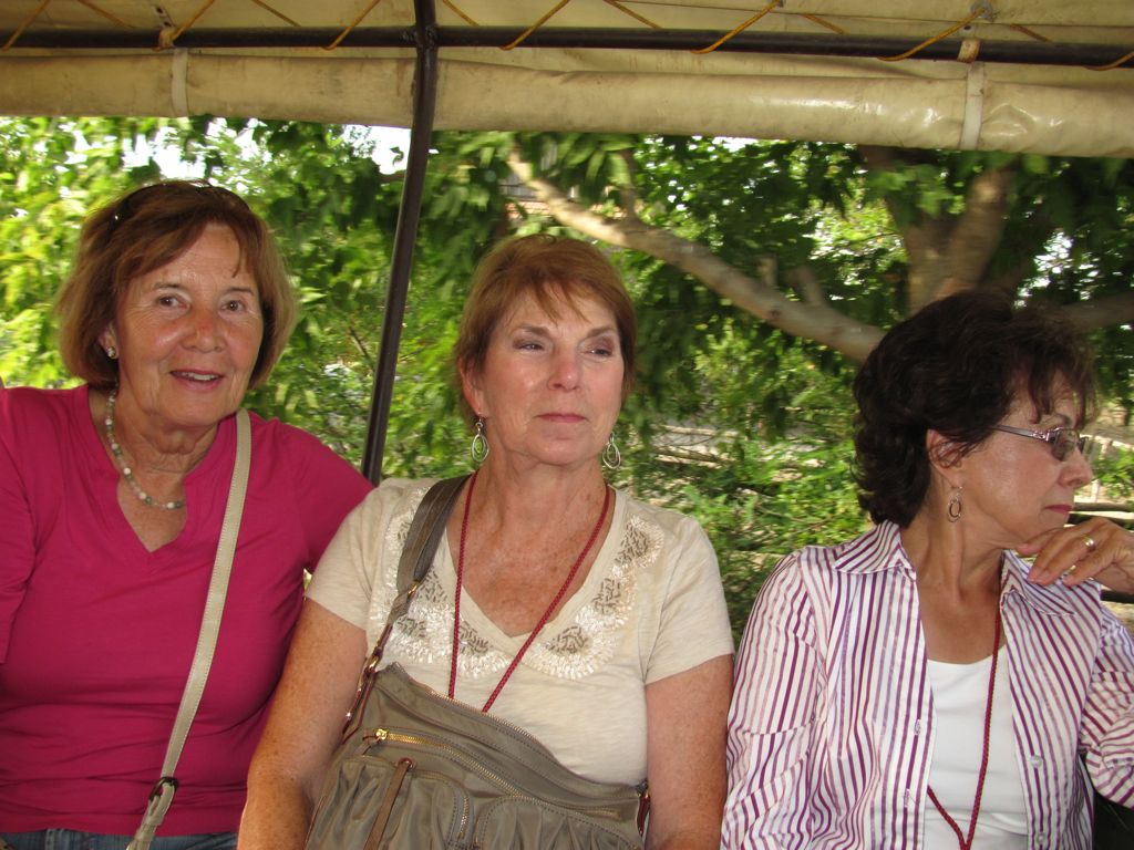
<instances>
[{"instance_id":1,"label":"short reddish-brown hair of the woman in the middle","mask_svg":"<svg viewBox=\"0 0 1134 850\"><path fill-rule=\"evenodd\" d=\"M568 301L593 298L607 307L618 329L623 356L623 399L634 386L637 318L618 270L593 245L566 236L535 233L506 239L490 250L473 274L465 301L460 333L454 347L457 379L462 371L484 368L492 334L509 308L531 294L549 316L556 317L555 297ZM469 420L472 410L458 393Z\"/></svg>"}]
</instances>

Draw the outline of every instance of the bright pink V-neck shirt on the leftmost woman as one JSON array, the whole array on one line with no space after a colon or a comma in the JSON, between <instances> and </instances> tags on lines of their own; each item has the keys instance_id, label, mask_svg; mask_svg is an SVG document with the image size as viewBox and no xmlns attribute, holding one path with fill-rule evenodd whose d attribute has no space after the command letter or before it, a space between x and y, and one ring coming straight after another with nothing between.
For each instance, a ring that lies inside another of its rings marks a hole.
<instances>
[{"instance_id":1,"label":"bright pink V-neck shirt on the leftmost woman","mask_svg":"<svg viewBox=\"0 0 1134 850\"><path fill-rule=\"evenodd\" d=\"M128 834L158 779L196 645L236 453L232 417L147 552L87 390L0 389L0 831ZM310 434L252 417L220 636L159 834L229 832L302 603L370 484Z\"/></svg>"}]
</instances>

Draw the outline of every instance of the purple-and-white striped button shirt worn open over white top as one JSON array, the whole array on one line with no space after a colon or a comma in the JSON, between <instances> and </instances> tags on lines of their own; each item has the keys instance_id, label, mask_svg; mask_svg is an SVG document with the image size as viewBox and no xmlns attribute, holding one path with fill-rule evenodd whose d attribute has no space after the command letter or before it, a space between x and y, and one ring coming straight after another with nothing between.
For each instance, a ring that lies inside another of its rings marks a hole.
<instances>
[{"instance_id":1,"label":"purple-and-white striped button shirt worn open over white top","mask_svg":"<svg viewBox=\"0 0 1134 850\"><path fill-rule=\"evenodd\" d=\"M1040 587L1005 564L1027 845L1089 850L1092 780L1134 805L1134 640L1093 583ZM723 848L921 847L933 697L897 526L785 558L736 663Z\"/></svg>"}]
</instances>

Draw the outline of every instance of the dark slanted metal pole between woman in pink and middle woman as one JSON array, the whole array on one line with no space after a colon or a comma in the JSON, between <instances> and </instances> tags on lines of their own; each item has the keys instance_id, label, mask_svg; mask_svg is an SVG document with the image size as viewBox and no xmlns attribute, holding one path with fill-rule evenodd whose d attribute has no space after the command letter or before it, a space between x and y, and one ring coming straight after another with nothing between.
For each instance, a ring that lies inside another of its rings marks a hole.
<instances>
[{"instance_id":1,"label":"dark slanted metal pole between woman in pink and middle woman","mask_svg":"<svg viewBox=\"0 0 1134 850\"><path fill-rule=\"evenodd\" d=\"M401 207L398 210L398 226L393 233L390 286L386 297L386 315L382 320L382 346L374 369L366 451L362 461L363 475L374 484L382 478L382 454L386 450L386 432L390 422L393 376L398 365L398 346L401 342L401 321L406 312L409 272L414 264L414 244L417 240L417 224L421 221L422 194L425 187L425 169L429 167L433 112L437 104L437 11L432 0L414 0L414 9L417 22L414 122L409 133L409 155L401 187Z\"/></svg>"}]
</instances>

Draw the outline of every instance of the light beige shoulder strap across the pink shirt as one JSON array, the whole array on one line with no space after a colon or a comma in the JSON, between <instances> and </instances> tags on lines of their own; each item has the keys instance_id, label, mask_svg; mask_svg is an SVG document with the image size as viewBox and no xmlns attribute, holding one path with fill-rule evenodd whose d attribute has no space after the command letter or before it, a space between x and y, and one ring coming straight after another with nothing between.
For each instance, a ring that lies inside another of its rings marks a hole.
<instances>
[{"instance_id":1,"label":"light beige shoulder strap across the pink shirt","mask_svg":"<svg viewBox=\"0 0 1134 850\"><path fill-rule=\"evenodd\" d=\"M201 617L201 632L197 635L197 648L189 665L189 675L181 694L181 704L177 708L174 731L169 736L166 748L166 759L161 764L161 777L150 791L145 815L134 834L134 840L127 850L147 850L154 833L166 818L166 813L174 802L177 790L177 777L174 772L181 757L181 749L189 736L189 726L201 704L201 695L205 689L209 669L212 666L213 651L217 648L217 635L220 632L221 615L225 613L225 597L228 594L228 579L232 571L232 556L236 554L236 537L240 530L240 517L244 513L244 495L248 488L248 470L252 466L252 425L248 411L236 411L236 465L232 467L232 482L228 488L228 504L225 507L225 520L220 529L220 543L217 545L217 559L213 561L212 578L209 580L209 595L205 597L205 610Z\"/></svg>"}]
</instances>

